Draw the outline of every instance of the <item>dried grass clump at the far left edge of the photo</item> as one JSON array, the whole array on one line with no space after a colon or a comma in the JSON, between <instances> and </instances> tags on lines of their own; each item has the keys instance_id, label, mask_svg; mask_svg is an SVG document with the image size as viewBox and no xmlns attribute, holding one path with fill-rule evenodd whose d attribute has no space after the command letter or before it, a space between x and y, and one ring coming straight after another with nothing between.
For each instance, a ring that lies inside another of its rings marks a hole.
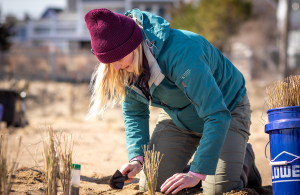
<instances>
[{"instance_id":1,"label":"dried grass clump at the far left edge of the photo","mask_svg":"<svg viewBox=\"0 0 300 195\"><path fill-rule=\"evenodd\" d=\"M22 137L19 139L19 146L15 159L11 162L8 161L7 156L7 138L6 136L0 137L0 194L8 195L11 188L13 177L12 174L16 171L18 167L18 157L21 148Z\"/></svg>"}]
</instances>

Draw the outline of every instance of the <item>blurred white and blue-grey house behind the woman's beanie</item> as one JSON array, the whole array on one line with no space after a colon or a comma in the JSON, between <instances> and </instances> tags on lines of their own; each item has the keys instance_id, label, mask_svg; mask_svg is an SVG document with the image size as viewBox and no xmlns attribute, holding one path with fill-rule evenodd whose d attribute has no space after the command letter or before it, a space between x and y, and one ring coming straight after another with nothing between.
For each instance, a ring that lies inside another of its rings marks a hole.
<instances>
[{"instance_id":1,"label":"blurred white and blue-grey house behind the woman's beanie","mask_svg":"<svg viewBox=\"0 0 300 195\"><path fill-rule=\"evenodd\" d=\"M37 21L28 20L16 26L14 42L18 47L47 48L72 52L90 50L90 36L84 15L94 8L108 8L124 14L139 8L171 20L168 10L177 6L178 0L67 0L65 10L48 8Z\"/></svg>"}]
</instances>

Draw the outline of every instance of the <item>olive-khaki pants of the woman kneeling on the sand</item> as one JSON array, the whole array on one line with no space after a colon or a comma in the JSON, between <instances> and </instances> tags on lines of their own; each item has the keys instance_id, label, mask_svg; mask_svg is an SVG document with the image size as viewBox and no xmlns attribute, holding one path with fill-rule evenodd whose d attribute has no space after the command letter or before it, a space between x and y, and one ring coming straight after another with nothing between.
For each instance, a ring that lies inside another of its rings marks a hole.
<instances>
[{"instance_id":1,"label":"olive-khaki pants of the woman kneeling on the sand","mask_svg":"<svg viewBox=\"0 0 300 195\"><path fill-rule=\"evenodd\" d=\"M250 135L251 109L247 94L231 112L231 122L218 161L216 174L207 175L202 181L203 193L222 194L241 189L240 179L248 137ZM158 169L157 191L175 173L182 173L184 167L199 146L202 134L177 127L169 115L162 110L150 140L150 147L163 154ZM199 146L201 147L201 146ZM140 190L147 189L143 172L140 177Z\"/></svg>"}]
</instances>

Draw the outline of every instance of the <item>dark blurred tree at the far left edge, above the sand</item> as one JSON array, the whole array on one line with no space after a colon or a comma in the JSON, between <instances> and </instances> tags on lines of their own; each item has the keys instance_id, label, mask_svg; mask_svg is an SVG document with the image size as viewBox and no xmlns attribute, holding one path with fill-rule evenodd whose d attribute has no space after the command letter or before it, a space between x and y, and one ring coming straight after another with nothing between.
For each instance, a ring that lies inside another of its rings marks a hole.
<instances>
[{"instance_id":1,"label":"dark blurred tree at the far left edge, above the sand","mask_svg":"<svg viewBox=\"0 0 300 195\"><path fill-rule=\"evenodd\" d=\"M4 23L0 21L0 51L9 50L11 46L9 38L15 34L13 28L16 22L17 19L12 15L6 16Z\"/></svg>"}]
</instances>

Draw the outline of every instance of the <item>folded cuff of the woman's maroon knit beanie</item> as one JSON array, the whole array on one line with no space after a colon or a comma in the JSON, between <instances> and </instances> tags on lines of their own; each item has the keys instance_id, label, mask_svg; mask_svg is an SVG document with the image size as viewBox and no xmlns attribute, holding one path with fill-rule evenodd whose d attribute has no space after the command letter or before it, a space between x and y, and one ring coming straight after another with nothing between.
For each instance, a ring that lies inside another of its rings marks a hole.
<instances>
[{"instance_id":1,"label":"folded cuff of the woman's maroon knit beanie","mask_svg":"<svg viewBox=\"0 0 300 195\"><path fill-rule=\"evenodd\" d=\"M97 59L102 63L108 64L116 62L130 54L132 51L134 51L142 43L142 41L142 31L140 27L137 24L135 24L133 34L125 43L111 51L103 53L97 53L94 51L94 54L97 57Z\"/></svg>"}]
</instances>

